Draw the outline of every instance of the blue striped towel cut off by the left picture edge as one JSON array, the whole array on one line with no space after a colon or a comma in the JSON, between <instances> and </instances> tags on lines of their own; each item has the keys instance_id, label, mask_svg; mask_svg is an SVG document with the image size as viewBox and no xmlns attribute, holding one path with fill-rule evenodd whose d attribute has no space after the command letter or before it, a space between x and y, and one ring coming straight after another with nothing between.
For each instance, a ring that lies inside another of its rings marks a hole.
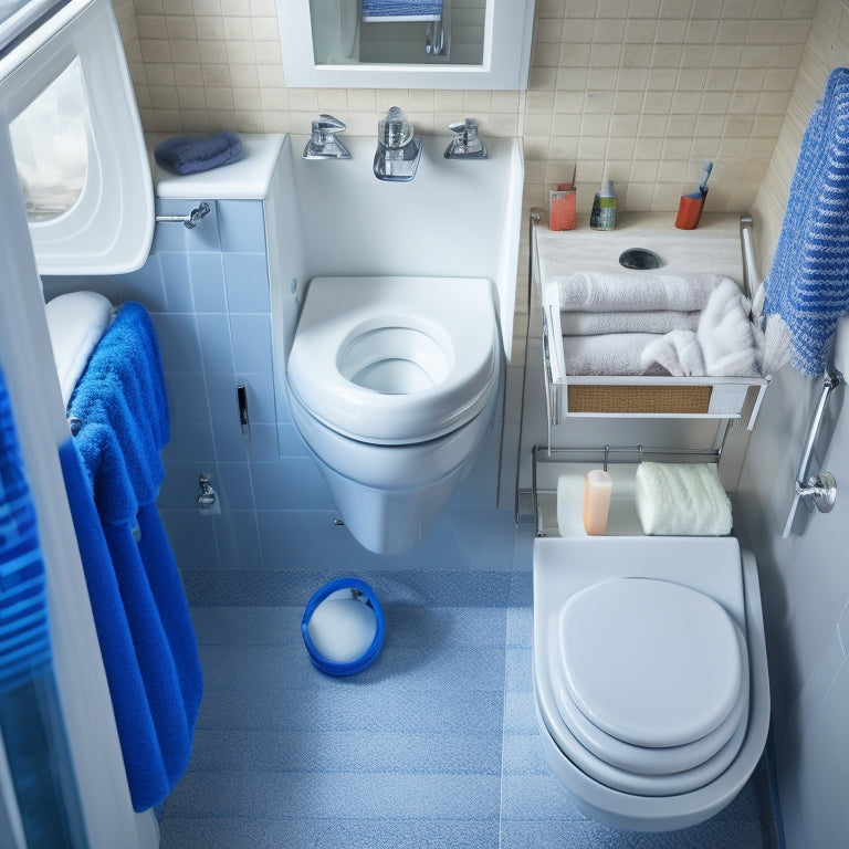
<instances>
[{"instance_id":1,"label":"blue striped towel cut off by the left picture edge","mask_svg":"<svg viewBox=\"0 0 849 849\"><path fill-rule=\"evenodd\" d=\"M0 693L18 689L50 660L35 510L0 371Z\"/></svg>"}]
</instances>

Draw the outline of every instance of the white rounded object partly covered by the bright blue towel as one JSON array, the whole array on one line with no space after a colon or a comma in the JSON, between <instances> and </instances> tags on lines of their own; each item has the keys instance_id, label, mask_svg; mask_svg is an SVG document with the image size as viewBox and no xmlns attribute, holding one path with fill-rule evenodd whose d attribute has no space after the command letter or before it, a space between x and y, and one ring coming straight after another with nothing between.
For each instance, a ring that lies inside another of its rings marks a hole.
<instances>
[{"instance_id":1,"label":"white rounded object partly covered by the bright blue towel","mask_svg":"<svg viewBox=\"0 0 849 849\"><path fill-rule=\"evenodd\" d=\"M45 307L62 401L67 408L76 382L112 322L113 305L97 292L69 292Z\"/></svg>"}]
</instances>

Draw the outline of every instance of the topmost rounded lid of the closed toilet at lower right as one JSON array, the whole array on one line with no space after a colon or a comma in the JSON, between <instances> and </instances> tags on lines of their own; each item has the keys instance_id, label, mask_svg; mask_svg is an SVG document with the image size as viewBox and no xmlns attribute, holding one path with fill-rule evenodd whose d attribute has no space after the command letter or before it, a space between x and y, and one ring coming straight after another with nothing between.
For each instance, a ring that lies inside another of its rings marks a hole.
<instances>
[{"instance_id":1,"label":"topmost rounded lid of the closed toilet at lower right","mask_svg":"<svg viewBox=\"0 0 849 849\"><path fill-rule=\"evenodd\" d=\"M612 737L649 747L693 743L729 717L744 672L737 635L712 598L648 578L580 590L557 627L580 712Z\"/></svg>"}]
</instances>

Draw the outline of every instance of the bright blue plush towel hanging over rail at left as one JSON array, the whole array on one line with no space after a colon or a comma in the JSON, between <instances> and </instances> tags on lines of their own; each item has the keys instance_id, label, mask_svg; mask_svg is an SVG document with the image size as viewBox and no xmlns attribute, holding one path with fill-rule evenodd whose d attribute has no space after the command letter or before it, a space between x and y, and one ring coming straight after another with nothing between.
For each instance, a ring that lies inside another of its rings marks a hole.
<instances>
[{"instance_id":1,"label":"bright blue plush towel hanging over rail at left","mask_svg":"<svg viewBox=\"0 0 849 849\"><path fill-rule=\"evenodd\" d=\"M140 304L118 311L69 415L82 424L61 453L65 485L133 806L145 810L163 801L186 769L202 678L186 595L156 509L160 450L170 431L159 346Z\"/></svg>"}]
</instances>

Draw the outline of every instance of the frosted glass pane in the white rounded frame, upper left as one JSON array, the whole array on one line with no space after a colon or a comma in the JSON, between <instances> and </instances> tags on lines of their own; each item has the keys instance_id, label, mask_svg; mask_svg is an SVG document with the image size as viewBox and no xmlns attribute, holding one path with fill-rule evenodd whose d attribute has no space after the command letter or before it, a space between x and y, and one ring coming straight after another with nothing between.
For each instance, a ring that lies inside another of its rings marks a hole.
<instances>
[{"instance_id":1,"label":"frosted glass pane in the white rounded frame, upper left","mask_svg":"<svg viewBox=\"0 0 849 849\"><path fill-rule=\"evenodd\" d=\"M10 124L30 221L57 218L78 200L88 170L88 124L78 60Z\"/></svg>"}]
</instances>

